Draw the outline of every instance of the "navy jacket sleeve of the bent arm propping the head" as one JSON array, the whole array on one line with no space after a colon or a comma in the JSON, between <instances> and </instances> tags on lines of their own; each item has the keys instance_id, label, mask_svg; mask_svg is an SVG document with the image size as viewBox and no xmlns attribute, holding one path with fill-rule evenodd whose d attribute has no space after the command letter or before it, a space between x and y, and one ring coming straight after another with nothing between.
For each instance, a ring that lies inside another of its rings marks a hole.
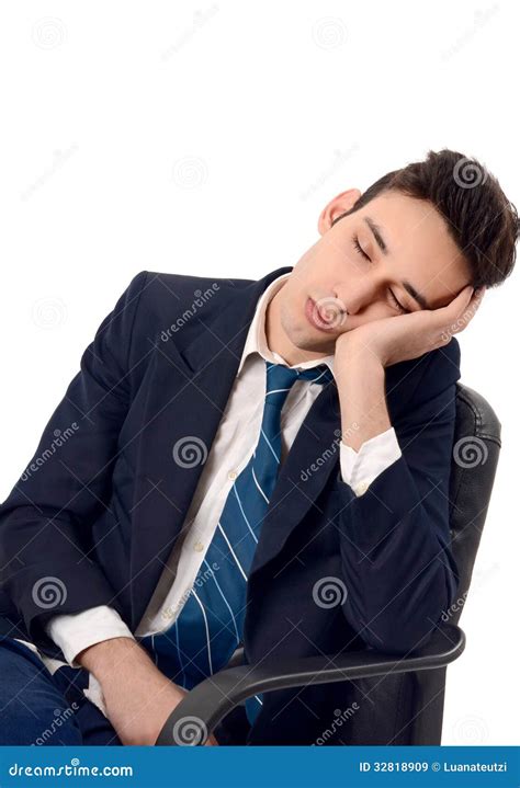
<instances>
[{"instance_id":1,"label":"navy jacket sleeve of the bent arm propping the head","mask_svg":"<svg viewBox=\"0 0 520 788\"><path fill-rule=\"evenodd\" d=\"M342 609L377 651L406 654L423 644L456 596L449 484L459 361L454 339L428 355L395 424L402 455L363 495L338 479Z\"/></svg>"}]
</instances>

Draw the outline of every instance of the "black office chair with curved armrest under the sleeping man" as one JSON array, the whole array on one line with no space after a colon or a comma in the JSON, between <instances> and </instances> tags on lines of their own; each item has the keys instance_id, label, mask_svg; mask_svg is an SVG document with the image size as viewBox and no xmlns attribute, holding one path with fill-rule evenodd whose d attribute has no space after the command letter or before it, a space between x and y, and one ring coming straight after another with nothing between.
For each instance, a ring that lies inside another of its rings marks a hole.
<instances>
[{"instance_id":1,"label":"black office chair with curved armrest under the sleeping man","mask_svg":"<svg viewBox=\"0 0 520 788\"><path fill-rule=\"evenodd\" d=\"M457 384L450 476L450 530L460 573L459 598L428 643L408 656L354 651L245 665L238 649L225 670L191 689L167 719L156 745L202 745L238 704L258 693L307 684L363 679L372 704L355 713L350 745L441 743L446 665L464 651L457 626L486 521L500 450L500 422L477 391ZM371 679L376 681L371 683ZM388 728L388 720L392 727ZM391 733L388 734L388 731ZM389 740L388 740L389 735ZM331 740L324 743L344 743Z\"/></svg>"}]
</instances>

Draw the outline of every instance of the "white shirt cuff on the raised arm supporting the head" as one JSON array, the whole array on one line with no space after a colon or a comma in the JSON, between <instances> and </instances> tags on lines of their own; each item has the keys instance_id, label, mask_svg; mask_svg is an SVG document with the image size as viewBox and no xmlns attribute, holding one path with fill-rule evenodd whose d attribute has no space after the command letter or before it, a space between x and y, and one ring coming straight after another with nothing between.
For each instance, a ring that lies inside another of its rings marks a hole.
<instances>
[{"instance_id":1,"label":"white shirt cuff on the raised arm supporting the head","mask_svg":"<svg viewBox=\"0 0 520 788\"><path fill-rule=\"evenodd\" d=\"M362 495L376 477L402 456L394 427L365 441L355 452L341 441L339 458L341 478L355 495Z\"/></svg>"}]
</instances>

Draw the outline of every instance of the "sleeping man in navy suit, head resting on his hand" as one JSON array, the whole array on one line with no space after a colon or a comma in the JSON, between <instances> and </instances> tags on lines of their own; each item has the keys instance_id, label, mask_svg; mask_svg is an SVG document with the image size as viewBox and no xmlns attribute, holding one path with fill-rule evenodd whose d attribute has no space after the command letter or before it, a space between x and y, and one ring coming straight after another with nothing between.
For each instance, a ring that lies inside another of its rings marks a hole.
<instances>
[{"instance_id":1,"label":"sleeping man in navy suit, head resting on his hand","mask_svg":"<svg viewBox=\"0 0 520 788\"><path fill-rule=\"evenodd\" d=\"M456 597L453 334L516 209L430 151L318 229L258 282L144 271L101 323L0 507L0 743L154 744L241 642L406 654ZM312 744L355 689L264 693L208 744Z\"/></svg>"}]
</instances>

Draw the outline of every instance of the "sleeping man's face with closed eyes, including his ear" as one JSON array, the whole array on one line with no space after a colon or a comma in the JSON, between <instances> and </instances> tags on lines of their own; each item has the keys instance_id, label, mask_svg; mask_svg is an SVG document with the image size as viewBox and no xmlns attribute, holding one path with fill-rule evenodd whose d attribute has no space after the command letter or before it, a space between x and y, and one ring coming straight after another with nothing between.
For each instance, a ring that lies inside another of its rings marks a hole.
<instances>
[{"instance_id":1,"label":"sleeping man's face with closed eyes, including his ear","mask_svg":"<svg viewBox=\"0 0 520 788\"><path fill-rule=\"evenodd\" d=\"M268 342L291 364L332 354L341 333L402 315L394 298L409 311L436 309L472 282L432 203L387 192L332 225L359 196L358 190L342 192L324 208L321 238L269 305ZM308 310L323 317L325 330L313 324Z\"/></svg>"}]
</instances>

